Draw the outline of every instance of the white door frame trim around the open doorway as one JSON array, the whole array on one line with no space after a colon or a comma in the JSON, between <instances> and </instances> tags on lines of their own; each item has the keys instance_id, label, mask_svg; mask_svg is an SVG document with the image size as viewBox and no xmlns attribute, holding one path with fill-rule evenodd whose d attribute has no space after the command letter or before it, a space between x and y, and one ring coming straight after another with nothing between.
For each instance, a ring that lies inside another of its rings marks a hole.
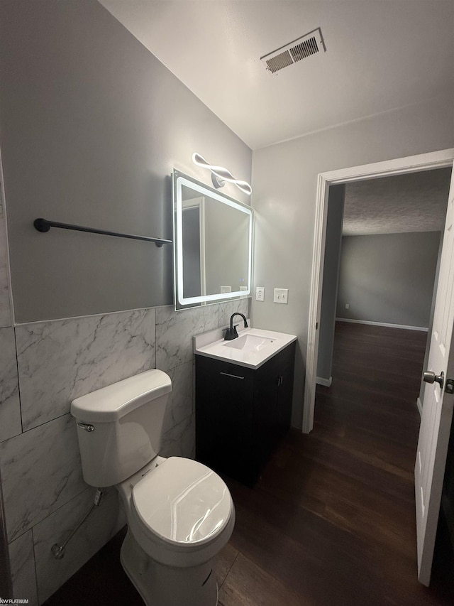
<instances>
[{"instance_id":1,"label":"white door frame trim around the open doorway","mask_svg":"<svg viewBox=\"0 0 454 606\"><path fill-rule=\"evenodd\" d=\"M395 160L386 160L373 164L341 168L338 171L319 173L317 181L316 217L314 227L314 248L312 252L311 298L309 303L309 327L306 349L306 382L304 385L303 433L314 428L314 408L317 356L319 353L319 330L321 308L321 286L323 283L323 258L325 254L326 215L328 212L328 193L330 185L353 183L367 179L404 175L432 168L453 166L454 148L421 153ZM448 202L448 201L446 201Z\"/></svg>"}]
</instances>

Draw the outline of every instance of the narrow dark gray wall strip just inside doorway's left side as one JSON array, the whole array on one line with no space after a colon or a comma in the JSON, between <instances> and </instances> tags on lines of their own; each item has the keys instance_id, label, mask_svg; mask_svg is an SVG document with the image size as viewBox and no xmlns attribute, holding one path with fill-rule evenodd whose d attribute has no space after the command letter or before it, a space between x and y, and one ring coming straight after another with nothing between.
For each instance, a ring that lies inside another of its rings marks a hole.
<instances>
[{"instance_id":1,"label":"narrow dark gray wall strip just inside doorway's left side","mask_svg":"<svg viewBox=\"0 0 454 606\"><path fill-rule=\"evenodd\" d=\"M323 286L321 292L319 358L317 359L317 378L324 379L325 381L331 379L331 366L333 363L344 196L345 185L332 185L329 188L325 258L323 261Z\"/></svg>"}]
</instances>

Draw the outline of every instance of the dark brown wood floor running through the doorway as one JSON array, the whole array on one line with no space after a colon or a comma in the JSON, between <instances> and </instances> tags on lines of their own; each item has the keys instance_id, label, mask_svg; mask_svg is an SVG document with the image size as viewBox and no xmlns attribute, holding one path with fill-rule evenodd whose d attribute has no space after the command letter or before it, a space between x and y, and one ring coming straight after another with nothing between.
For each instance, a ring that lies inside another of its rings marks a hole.
<instances>
[{"instance_id":1,"label":"dark brown wood floor running through the doorway","mask_svg":"<svg viewBox=\"0 0 454 606\"><path fill-rule=\"evenodd\" d=\"M338 323L333 384L318 388L314 431L292 430L254 489L226 478L237 517L217 560L221 605L454 603L442 527L430 588L416 572L413 469L425 346L424 332ZM122 538L46 606L141 605L119 563Z\"/></svg>"}]
</instances>

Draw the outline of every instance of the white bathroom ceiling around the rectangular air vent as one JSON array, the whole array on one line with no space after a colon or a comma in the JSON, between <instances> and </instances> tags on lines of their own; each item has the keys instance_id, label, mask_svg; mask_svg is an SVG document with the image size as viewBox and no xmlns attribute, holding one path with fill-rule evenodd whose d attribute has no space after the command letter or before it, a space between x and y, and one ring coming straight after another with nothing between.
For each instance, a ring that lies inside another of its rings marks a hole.
<instances>
[{"instance_id":1,"label":"white bathroom ceiling around the rectangular air vent","mask_svg":"<svg viewBox=\"0 0 454 606\"><path fill-rule=\"evenodd\" d=\"M252 149L454 96L453 0L100 1ZM265 70L319 26L326 53Z\"/></svg>"}]
</instances>

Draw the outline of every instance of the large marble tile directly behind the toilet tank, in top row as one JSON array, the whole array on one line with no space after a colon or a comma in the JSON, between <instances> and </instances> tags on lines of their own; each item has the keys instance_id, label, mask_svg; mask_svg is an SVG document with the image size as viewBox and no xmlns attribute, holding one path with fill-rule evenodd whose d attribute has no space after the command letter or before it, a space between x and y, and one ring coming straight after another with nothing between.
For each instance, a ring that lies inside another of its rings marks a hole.
<instances>
[{"instance_id":1,"label":"large marble tile directly behind the toilet tank, in top row","mask_svg":"<svg viewBox=\"0 0 454 606\"><path fill-rule=\"evenodd\" d=\"M27 431L68 413L78 396L155 368L155 310L23 324L16 343Z\"/></svg>"}]
</instances>

